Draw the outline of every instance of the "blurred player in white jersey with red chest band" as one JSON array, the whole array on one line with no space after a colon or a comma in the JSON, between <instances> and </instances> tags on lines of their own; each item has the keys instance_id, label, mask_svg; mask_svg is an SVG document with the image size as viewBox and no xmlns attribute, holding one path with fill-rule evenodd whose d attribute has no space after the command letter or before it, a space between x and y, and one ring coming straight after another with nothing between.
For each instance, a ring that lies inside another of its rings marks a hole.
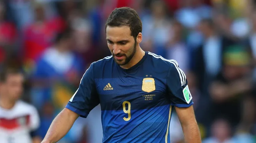
<instances>
[{"instance_id":1,"label":"blurred player in white jersey with red chest band","mask_svg":"<svg viewBox=\"0 0 256 143\"><path fill-rule=\"evenodd\" d=\"M0 74L0 143L38 143L39 127L36 108L20 100L24 76L6 69Z\"/></svg>"}]
</instances>

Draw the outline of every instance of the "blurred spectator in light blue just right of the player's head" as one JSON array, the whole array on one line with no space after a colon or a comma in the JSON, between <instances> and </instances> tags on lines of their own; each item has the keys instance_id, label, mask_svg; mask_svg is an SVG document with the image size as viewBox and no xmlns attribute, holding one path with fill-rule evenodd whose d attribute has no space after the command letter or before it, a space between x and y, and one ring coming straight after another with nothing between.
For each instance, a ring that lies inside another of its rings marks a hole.
<instances>
[{"instance_id":1,"label":"blurred spectator in light blue just right of the player's head","mask_svg":"<svg viewBox=\"0 0 256 143\"><path fill-rule=\"evenodd\" d=\"M170 39L170 20L167 17L165 3L157 0L151 4L152 13L141 18L142 48L165 57L165 46Z\"/></svg>"}]
</instances>

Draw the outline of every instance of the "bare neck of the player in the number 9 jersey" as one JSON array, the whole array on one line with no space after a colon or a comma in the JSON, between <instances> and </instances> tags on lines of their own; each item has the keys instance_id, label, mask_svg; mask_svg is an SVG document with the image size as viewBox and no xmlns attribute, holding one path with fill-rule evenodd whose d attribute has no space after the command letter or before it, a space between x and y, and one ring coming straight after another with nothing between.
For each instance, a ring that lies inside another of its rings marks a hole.
<instances>
[{"instance_id":1,"label":"bare neck of the player in the number 9 jersey","mask_svg":"<svg viewBox=\"0 0 256 143\"><path fill-rule=\"evenodd\" d=\"M124 69L129 69L132 66L136 65L143 58L144 55L145 55L145 51L143 51L140 47L137 47L137 51L135 55L132 57L131 61L128 64L120 67Z\"/></svg>"}]
</instances>

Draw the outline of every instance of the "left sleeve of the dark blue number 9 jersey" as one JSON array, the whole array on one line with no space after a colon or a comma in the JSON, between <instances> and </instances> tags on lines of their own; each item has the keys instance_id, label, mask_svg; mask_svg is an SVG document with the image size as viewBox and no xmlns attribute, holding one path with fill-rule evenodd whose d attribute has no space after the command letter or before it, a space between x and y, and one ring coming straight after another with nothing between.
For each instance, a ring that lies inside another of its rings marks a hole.
<instances>
[{"instance_id":1,"label":"left sleeve of the dark blue number 9 jersey","mask_svg":"<svg viewBox=\"0 0 256 143\"><path fill-rule=\"evenodd\" d=\"M66 108L86 118L98 104L99 97L94 82L92 63L83 75L79 88L69 100Z\"/></svg>"}]
</instances>

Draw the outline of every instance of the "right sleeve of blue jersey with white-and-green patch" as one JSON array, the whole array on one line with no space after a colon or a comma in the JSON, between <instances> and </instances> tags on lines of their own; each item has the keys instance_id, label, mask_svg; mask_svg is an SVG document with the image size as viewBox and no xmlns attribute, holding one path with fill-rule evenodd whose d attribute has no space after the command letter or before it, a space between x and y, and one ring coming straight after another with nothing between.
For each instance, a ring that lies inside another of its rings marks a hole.
<instances>
[{"instance_id":1,"label":"right sleeve of blue jersey with white-and-green patch","mask_svg":"<svg viewBox=\"0 0 256 143\"><path fill-rule=\"evenodd\" d=\"M186 75L175 60L170 61L171 65L167 75L168 97L171 100L171 105L187 108L193 104L193 101Z\"/></svg>"}]
</instances>

